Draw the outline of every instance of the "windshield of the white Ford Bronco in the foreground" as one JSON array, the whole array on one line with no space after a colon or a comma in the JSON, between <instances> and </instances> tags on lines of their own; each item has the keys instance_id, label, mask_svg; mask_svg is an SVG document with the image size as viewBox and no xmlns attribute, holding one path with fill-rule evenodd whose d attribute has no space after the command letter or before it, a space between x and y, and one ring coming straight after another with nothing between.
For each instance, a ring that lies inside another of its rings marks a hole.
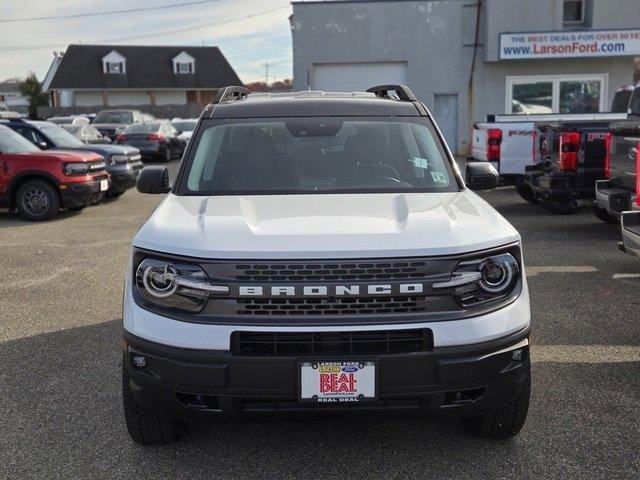
<instances>
[{"instance_id":1,"label":"windshield of the white Ford Bronco in the foreground","mask_svg":"<svg viewBox=\"0 0 640 480\"><path fill-rule=\"evenodd\" d=\"M179 192L458 190L451 165L426 118L209 120L203 125Z\"/></svg>"}]
</instances>

